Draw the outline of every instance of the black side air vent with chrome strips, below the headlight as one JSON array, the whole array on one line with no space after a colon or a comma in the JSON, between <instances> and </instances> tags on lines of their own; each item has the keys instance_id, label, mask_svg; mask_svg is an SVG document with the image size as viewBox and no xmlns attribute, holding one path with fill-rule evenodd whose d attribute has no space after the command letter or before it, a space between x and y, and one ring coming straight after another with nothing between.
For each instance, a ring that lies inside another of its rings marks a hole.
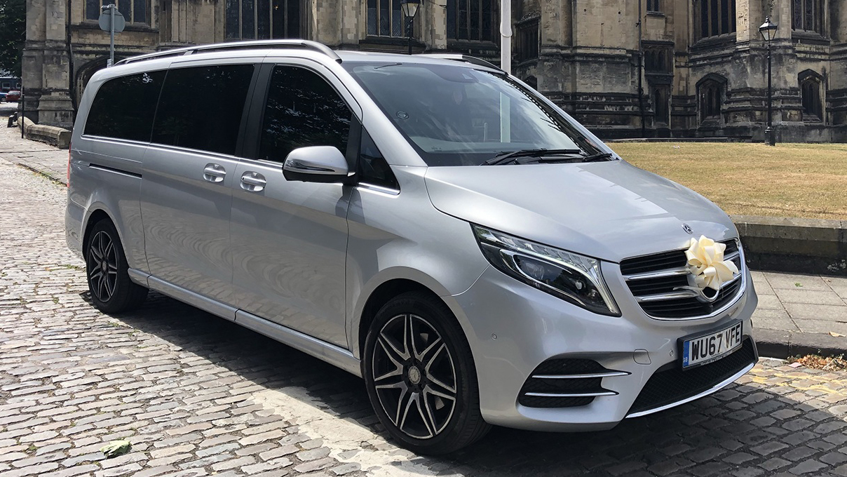
<instances>
[{"instance_id":1,"label":"black side air vent with chrome strips, below the headlight","mask_svg":"<svg viewBox=\"0 0 847 477\"><path fill-rule=\"evenodd\" d=\"M528 408L574 408L594 401L597 393L611 393L603 389L601 376L617 373L604 368L592 359L555 358L538 365L523 383L518 402ZM581 377L584 375L584 377ZM549 376L547 378L536 376ZM567 376L567 378L562 378ZM540 393L553 396L533 396ZM555 395L567 396L555 396ZM584 394L586 396L579 396ZM578 396L573 396L578 395Z\"/></svg>"}]
</instances>

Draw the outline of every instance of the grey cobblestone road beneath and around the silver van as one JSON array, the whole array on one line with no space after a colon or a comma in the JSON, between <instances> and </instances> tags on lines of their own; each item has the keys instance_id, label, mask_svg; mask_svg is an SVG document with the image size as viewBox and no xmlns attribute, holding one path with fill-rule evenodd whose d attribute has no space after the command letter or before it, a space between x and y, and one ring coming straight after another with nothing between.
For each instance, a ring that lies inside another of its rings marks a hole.
<instances>
[{"instance_id":1,"label":"grey cobblestone road beneath and around the silver van","mask_svg":"<svg viewBox=\"0 0 847 477\"><path fill-rule=\"evenodd\" d=\"M611 431L495 429L415 456L343 371L159 295L98 313L64 245L64 187L2 158L0 184L0 477L847 475L847 373L778 361ZM132 451L104 459L118 438Z\"/></svg>"}]
</instances>

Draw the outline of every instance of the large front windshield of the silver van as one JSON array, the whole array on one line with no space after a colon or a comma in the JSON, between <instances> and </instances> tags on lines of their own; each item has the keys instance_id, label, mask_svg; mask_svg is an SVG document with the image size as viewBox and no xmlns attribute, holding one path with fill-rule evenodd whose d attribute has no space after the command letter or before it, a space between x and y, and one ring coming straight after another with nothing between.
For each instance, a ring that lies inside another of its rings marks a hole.
<instances>
[{"instance_id":1,"label":"large front windshield of the silver van","mask_svg":"<svg viewBox=\"0 0 847 477\"><path fill-rule=\"evenodd\" d=\"M526 149L602 151L506 76L446 64L342 64L430 166L478 165Z\"/></svg>"}]
</instances>

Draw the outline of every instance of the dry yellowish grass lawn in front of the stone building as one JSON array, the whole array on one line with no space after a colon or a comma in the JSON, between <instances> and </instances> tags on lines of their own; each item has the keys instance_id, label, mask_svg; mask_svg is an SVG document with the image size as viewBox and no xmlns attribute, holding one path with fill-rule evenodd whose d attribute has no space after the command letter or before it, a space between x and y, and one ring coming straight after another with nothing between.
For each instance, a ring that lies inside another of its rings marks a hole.
<instances>
[{"instance_id":1,"label":"dry yellowish grass lawn in front of the stone building","mask_svg":"<svg viewBox=\"0 0 847 477\"><path fill-rule=\"evenodd\" d=\"M611 142L631 164L728 214L847 219L847 144Z\"/></svg>"}]
</instances>

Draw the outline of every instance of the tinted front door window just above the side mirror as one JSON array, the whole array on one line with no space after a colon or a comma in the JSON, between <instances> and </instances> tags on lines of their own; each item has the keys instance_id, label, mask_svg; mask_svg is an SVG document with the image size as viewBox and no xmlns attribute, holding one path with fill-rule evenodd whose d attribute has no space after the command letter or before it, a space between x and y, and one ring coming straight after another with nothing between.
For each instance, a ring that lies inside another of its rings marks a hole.
<instances>
[{"instance_id":1,"label":"tinted front door window just above the side mirror","mask_svg":"<svg viewBox=\"0 0 847 477\"><path fill-rule=\"evenodd\" d=\"M297 147L347 151L351 111L329 83L308 69L277 66L271 76L259 158L282 162Z\"/></svg>"}]
</instances>

